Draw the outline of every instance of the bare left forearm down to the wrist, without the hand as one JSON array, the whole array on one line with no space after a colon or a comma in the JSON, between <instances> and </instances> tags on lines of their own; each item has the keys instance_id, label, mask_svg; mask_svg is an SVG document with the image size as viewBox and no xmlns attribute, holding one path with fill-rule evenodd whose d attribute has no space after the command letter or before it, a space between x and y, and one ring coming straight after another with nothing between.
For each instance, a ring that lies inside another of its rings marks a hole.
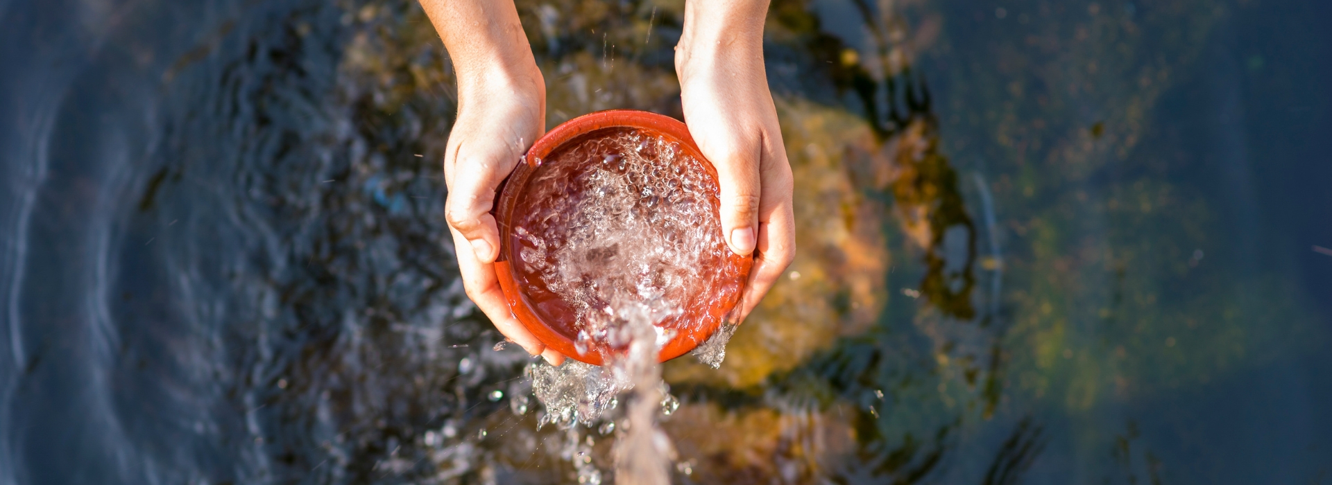
<instances>
[{"instance_id":1,"label":"bare left forearm down to the wrist, without the hand","mask_svg":"<svg viewBox=\"0 0 1332 485\"><path fill-rule=\"evenodd\" d=\"M511 88L545 93L513 0L421 0L458 76L464 100Z\"/></svg>"}]
</instances>

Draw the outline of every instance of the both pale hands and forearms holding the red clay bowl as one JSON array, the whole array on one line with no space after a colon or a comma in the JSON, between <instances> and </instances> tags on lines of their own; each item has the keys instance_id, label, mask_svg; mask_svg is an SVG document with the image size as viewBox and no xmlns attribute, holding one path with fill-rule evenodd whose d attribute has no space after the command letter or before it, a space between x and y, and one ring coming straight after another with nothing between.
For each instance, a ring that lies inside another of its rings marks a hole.
<instances>
[{"instance_id":1,"label":"both pale hands and forearms holding the red clay bowl","mask_svg":"<svg viewBox=\"0 0 1332 485\"><path fill-rule=\"evenodd\" d=\"M713 166L722 234L731 251L754 258L743 320L795 256L791 166L763 70L767 0L689 0L675 47L685 124ZM458 77L458 118L449 134L445 218L468 296L497 330L551 364L546 348L509 311L494 260L500 233L496 187L545 133L546 85L513 0L421 0Z\"/></svg>"}]
</instances>

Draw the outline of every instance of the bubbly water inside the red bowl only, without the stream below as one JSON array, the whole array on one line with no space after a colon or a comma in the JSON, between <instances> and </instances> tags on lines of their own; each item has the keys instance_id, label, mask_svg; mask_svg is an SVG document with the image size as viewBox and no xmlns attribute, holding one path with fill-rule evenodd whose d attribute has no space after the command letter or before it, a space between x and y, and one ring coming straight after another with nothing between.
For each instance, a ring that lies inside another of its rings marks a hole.
<instances>
[{"instance_id":1,"label":"bubbly water inside the red bowl only, without the stream below","mask_svg":"<svg viewBox=\"0 0 1332 485\"><path fill-rule=\"evenodd\" d=\"M621 130L554 153L529 182L518 266L571 311L579 352L627 348L629 306L647 312L665 344L709 319L689 308L741 290L703 163L675 142Z\"/></svg>"}]
</instances>

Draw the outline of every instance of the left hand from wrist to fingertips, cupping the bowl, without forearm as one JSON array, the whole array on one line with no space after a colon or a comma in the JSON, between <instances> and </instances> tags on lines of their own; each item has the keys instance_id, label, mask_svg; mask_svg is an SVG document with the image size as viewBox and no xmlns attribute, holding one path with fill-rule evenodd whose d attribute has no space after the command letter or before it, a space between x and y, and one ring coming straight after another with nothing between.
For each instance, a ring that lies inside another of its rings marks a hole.
<instances>
[{"instance_id":1,"label":"left hand from wrist to fingertips, cupping the bowl, without forearm","mask_svg":"<svg viewBox=\"0 0 1332 485\"><path fill-rule=\"evenodd\" d=\"M462 287L472 302L500 334L527 353L558 365L563 355L542 344L513 316L494 267L500 255L500 230L490 215L496 189L545 133L546 90L541 72L535 65L522 70L488 73L478 81L478 89L460 92L458 120L444 157L444 179L449 186L445 218L453 233Z\"/></svg>"}]
</instances>

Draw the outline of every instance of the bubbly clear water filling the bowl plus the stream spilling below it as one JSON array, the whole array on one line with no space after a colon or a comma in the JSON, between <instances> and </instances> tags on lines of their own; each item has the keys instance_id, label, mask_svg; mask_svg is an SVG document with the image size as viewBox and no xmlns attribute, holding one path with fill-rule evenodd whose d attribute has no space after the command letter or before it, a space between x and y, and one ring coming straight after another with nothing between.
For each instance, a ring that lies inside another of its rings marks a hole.
<instances>
[{"instance_id":1,"label":"bubbly clear water filling the bowl plus the stream spilling below it","mask_svg":"<svg viewBox=\"0 0 1332 485\"><path fill-rule=\"evenodd\" d=\"M706 312L686 308L707 308L742 283L729 272L735 270L717 217L717 182L678 144L634 130L583 140L538 170L527 197L543 206L525 211L515 227L521 270L573 311L577 349L603 352L606 363L530 367L545 407L539 423L613 433L618 482L667 484L674 449L657 417L678 401L657 356L677 331L706 323ZM733 331L722 326L695 356L719 365ZM610 413L622 396L623 411ZM581 480L601 480L569 452Z\"/></svg>"}]
</instances>

